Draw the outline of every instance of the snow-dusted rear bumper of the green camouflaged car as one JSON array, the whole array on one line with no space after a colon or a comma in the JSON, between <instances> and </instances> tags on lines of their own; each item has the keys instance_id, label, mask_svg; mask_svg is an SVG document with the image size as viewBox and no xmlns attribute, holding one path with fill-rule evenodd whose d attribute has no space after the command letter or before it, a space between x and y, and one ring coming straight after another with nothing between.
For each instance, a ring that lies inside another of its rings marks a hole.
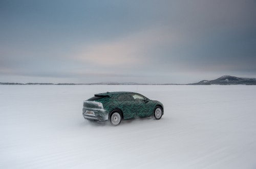
<instances>
[{"instance_id":1,"label":"snow-dusted rear bumper of the green camouflaged car","mask_svg":"<svg viewBox=\"0 0 256 169\"><path fill-rule=\"evenodd\" d=\"M93 111L94 115L87 114L87 110ZM84 119L88 119L88 120L96 120L96 121L100 121L100 122L109 120L109 112L106 111L105 109L99 109L99 110L95 111L95 109L83 107L82 115L83 115Z\"/></svg>"}]
</instances>

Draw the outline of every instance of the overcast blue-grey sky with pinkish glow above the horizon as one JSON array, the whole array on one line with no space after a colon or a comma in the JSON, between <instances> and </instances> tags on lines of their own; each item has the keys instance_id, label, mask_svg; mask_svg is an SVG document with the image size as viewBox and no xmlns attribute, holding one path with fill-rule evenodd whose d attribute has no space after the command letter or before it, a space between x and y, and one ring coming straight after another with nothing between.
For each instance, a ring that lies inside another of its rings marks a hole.
<instances>
[{"instance_id":1,"label":"overcast blue-grey sky with pinkish glow above the horizon","mask_svg":"<svg viewBox=\"0 0 256 169\"><path fill-rule=\"evenodd\" d=\"M0 1L0 82L256 78L256 1Z\"/></svg>"}]
</instances>

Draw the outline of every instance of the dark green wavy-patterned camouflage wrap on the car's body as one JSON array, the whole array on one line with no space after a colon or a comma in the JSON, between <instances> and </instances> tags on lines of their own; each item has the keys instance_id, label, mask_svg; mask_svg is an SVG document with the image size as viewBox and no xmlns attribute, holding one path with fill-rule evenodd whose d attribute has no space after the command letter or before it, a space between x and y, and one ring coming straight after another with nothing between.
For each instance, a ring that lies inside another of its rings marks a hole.
<instances>
[{"instance_id":1,"label":"dark green wavy-patterned camouflage wrap on the car's body","mask_svg":"<svg viewBox=\"0 0 256 169\"><path fill-rule=\"evenodd\" d=\"M134 99L133 97L136 96L133 95L141 96L143 99ZM153 116L153 111L157 105L160 105L163 109L163 104L161 102L147 99L146 97L133 92L108 92L95 94L95 96L104 96L101 99L95 100L95 102L100 102L103 105L104 114L101 112L102 115L109 116L110 112L114 109L120 109L123 114L123 120L133 119L136 117L151 117ZM86 107L88 106L83 107L83 115L85 110L88 109ZM95 115L96 114L97 113L95 112Z\"/></svg>"}]
</instances>

